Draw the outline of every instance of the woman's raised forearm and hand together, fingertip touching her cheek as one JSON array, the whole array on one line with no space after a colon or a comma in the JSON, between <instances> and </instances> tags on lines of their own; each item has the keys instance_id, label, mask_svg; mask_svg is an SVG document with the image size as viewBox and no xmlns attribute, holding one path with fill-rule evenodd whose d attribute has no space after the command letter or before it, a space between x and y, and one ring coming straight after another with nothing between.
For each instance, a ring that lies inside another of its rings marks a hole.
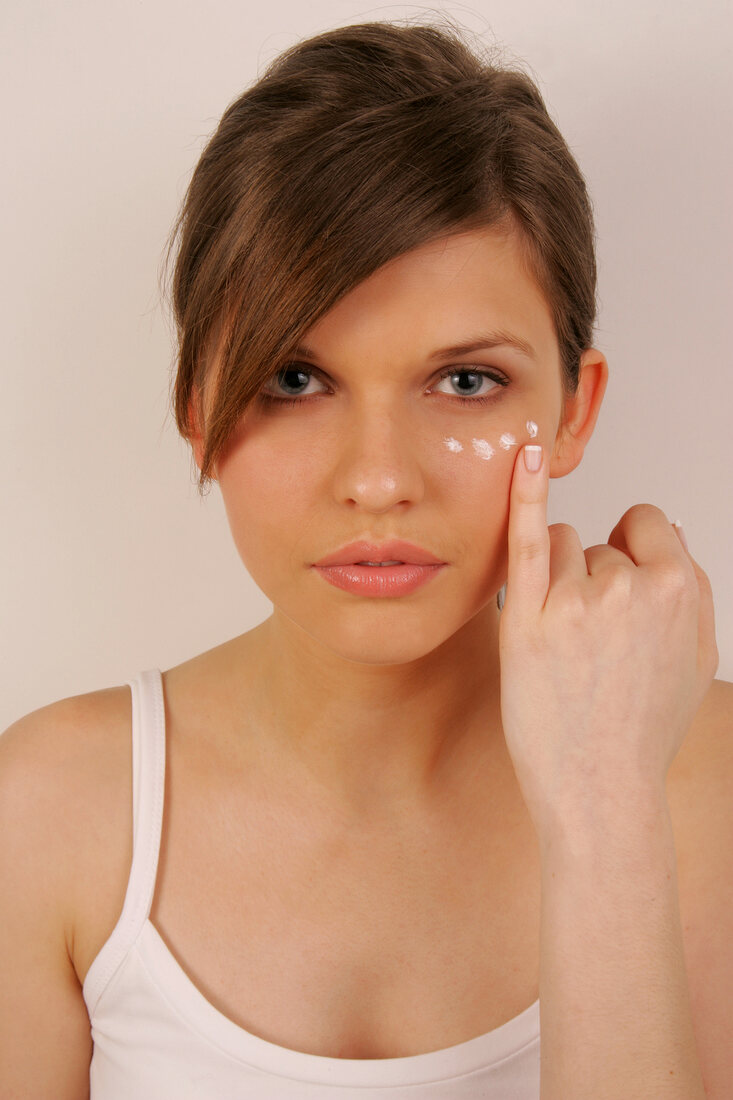
<instances>
[{"instance_id":1,"label":"woman's raised forearm and hand together, fingertip touching her cheek","mask_svg":"<svg viewBox=\"0 0 733 1100\"><path fill-rule=\"evenodd\" d=\"M710 583L652 505L547 527L517 459L502 722L540 851L541 1100L703 1100L665 782L718 668Z\"/></svg>"}]
</instances>

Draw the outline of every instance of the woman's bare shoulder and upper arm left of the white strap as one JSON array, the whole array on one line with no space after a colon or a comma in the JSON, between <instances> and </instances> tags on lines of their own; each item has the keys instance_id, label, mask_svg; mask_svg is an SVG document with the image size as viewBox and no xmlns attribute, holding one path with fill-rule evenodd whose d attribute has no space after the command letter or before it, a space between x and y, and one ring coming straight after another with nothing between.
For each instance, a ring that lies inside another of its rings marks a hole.
<instances>
[{"instance_id":1,"label":"woman's bare shoulder and upper arm left of the white strap","mask_svg":"<svg viewBox=\"0 0 733 1100\"><path fill-rule=\"evenodd\" d=\"M99 928L121 906L120 880L124 897L125 694L114 688L62 700L0 737L3 1096L88 1096L92 1044L75 965L77 915L90 906L85 927Z\"/></svg>"}]
</instances>

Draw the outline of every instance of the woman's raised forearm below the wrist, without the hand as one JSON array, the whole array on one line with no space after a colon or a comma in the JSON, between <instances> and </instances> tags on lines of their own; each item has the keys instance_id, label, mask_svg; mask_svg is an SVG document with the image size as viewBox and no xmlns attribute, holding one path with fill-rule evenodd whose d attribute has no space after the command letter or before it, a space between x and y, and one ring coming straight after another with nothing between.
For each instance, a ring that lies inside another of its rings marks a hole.
<instances>
[{"instance_id":1,"label":"woman's raised forearm below the wrist, without the hand","mask_svg":"<svg viewBox=\"0 0 733 1100\"><path fill-rule=\"evenodd\" d=\"M704 1100L663 795L540 837L541 1100Z\"/></svg>"}]
</instances>

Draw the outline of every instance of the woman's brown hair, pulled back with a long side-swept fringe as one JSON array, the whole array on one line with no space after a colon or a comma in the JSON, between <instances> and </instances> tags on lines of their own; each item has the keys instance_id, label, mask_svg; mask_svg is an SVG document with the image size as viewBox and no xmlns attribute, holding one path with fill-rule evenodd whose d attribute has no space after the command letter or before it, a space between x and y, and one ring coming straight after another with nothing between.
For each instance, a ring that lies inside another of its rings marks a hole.
<instances>
[{"instance_id":1,"label":"woman's brown hair, pulled back with a long side-swept fringe","mask_svg":"<svg viewBox=\"0 0 733 1100\"><path fill-rule=\"evenodd\" d=\"M452 24L344 26L286 50L225 111L167 250L174 410L184 438L192 414L203 431L199 490L306 330L449 232L518 227L576 392L595 317L591 204L537 86L481 53Z\"/></svg>"}]
</instances>

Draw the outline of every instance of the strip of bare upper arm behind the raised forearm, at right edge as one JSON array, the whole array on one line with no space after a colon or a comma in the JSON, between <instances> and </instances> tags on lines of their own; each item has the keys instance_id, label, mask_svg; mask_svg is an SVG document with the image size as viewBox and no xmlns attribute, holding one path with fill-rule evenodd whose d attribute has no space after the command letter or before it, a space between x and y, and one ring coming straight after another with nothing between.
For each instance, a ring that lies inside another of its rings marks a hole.
<instances>
[{"instance_id":1,"label":"strip of bare upper arm behind the raised forearm, at right edge","mask_svg":"<svg viewBox=\"0 0 733 1100\"><path fill-rule=\"evenodd\" d=\"M714 680L668 777L696 1040L710 1097L733 1079L733 683Z\"/></svg>"}]
</instances>

